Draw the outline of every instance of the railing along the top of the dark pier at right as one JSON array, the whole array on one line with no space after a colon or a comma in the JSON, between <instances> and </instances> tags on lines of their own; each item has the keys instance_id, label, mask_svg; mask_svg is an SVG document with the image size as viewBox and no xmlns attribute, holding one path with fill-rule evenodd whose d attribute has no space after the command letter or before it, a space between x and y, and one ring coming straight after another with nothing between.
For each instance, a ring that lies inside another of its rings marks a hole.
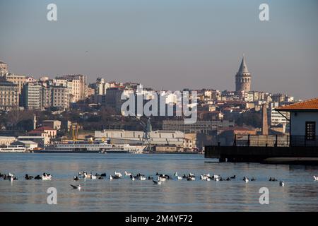
<instances>
[{"instance_id":1,"label":"railing along the top of the dark pier at right","mask_svg":"<svg viewBox=\"0 0 318 226\"><path fill-rule=\"evenodd\" d=\"M234 146L251 146L251 147L306 147L318 146L318 136L298 135L238 135L235 134Z\"/></svg>"}]
</instances>

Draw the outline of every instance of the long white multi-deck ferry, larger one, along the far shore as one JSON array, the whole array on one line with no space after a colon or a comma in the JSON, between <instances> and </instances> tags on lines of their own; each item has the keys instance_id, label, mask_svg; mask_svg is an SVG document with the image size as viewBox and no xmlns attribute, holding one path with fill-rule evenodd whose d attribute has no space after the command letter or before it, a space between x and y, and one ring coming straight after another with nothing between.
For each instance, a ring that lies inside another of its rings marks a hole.
<instances>
[{"instance_id":1,"label":"long white multi-deck ferry, larger one, along the far shore","mask_svg":"<svg viewBox=\"0 0 318 226\"><path fill-rule=\"evenodd\" d=\"M45 146L35 153L129 153L124 146L112 145L106 141L69 141Z\"/></svg>"}]
</instances>

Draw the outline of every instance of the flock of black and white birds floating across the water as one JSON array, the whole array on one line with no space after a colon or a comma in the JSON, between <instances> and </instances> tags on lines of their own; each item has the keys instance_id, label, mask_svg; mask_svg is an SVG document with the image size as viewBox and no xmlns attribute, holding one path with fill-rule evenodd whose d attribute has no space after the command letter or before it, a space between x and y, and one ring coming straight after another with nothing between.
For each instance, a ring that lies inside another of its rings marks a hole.
<instances>
[{"instance_id":1,"label":"flock of black and white birds floating across the water","mask_svg":"<svg viewBox=\"0 0 318 226\"><path fill-rule=\"evenodd\" d=\"M83 172L78 172L78 176L74 176L73 177L73 180L74 181L78 181L79 179L83 178L83 179L105 179L106 177L106 173L102 173L102 174L98 174L96 173L95 175L93 173L90 173L88 174L86 171L83 171ZM108 179L110 180L113 180L113 179L121 179L123 177L122 173L121 172L116 172L114 171L114 174L110 175L108 177ZM187 181L194 181L196 179L196 176L192 173L189 173L188 175L186 174L183 174L182 176L179 176L177 172L175 172L173 174L173 177L169 176L169 175L166 175L166 174L160 174L158 172L156 172L155 174L155 177L151 177L151 176L148 176L146 177L145 175L143 174L132 174L131 172L124 172L124 177L129 177L132 181L134 180L141 180L141 181L145 181L145 180L152 180L153 181L153 184L158 184L160 185L162 182L165 182L166 180L169 180L169 179L177 179L177 180L187 180ZM3 178L3 179L7 179L11 182L15 181L18 179L18 177L16 177L14 174L11 174L11 172L9 172L8 174L1 174L0 173L0 178ZM48 174L48 173L43 173L42 176L40 175L37 175L36 177L33 177L33 176L30 176L28 174L25 174L25 179L27 180L30 180L30 179L42 179L42 180L51 180L52 179L52 175L51 174ZM313 176L314 178L314 181L318 181L318 177L316 176ZM236 176L232 176L232 177L227 177L226 179L223 178L223 177L220 177L219 175L216 175L216 174L213 174L211 176L211 174L201 174L200 175L200 179L203 180L203 181L230 181L232 179L236 179ZM248 177L243 177L243 181L245 183L248 183L249 181L253 182L253 181L256 181L256 178L252 177L251 179L249 179ZM278 179L276 179L275 177L270 177L269 178L269 181L270 182L278 182ZM78 190L81 190L81 184L78 184L78 185L73 185L73 184L70 184L71 187L73 189L78 189ZM283 180L279 181L279 186L285 186L285 182Z\"/></svg>"}]
</instances>

